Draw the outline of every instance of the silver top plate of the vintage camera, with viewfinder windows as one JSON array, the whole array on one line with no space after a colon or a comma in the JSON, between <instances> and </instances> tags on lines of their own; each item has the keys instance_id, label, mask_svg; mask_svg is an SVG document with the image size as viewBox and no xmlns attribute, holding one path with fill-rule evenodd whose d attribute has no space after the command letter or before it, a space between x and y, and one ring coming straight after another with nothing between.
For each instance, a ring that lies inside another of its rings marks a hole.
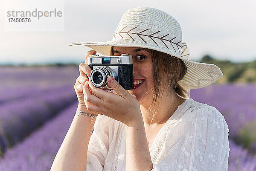
<instances>
[{"instance_id":1,"label":"silver top plate of the vintage camera, with viewfinder windows","mask_svg":"<svg viewBox=\"0 0 256 171\"><path fill-rule=\"evenodd\" d=\"M106 56L99 56L99 55L89 55L87 58L87 64L132 64L132 55L128 53L122 53L118 56L106 55Z\"/></svg>"}]
</instances>

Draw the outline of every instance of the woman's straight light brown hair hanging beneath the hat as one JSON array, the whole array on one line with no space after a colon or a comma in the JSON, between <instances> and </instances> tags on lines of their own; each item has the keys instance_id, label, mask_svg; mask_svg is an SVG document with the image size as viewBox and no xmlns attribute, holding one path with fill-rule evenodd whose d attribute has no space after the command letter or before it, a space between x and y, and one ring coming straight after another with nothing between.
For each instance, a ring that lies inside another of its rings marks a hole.
<instances>
[{"instance_id":1,"label":"woman's straight light brown hair hanging beneath the hat","mask_svg":"<svg viewBox=\"0 0 256 171\"><path fill-rule=\"evenodd\" d=\"M142 48L143 49L143 48ZM153 63L153 91L148 94L152 96L152 101L149 106L151 114L151 123L154 116L158 113L161 104L165 103L165 93L186 98L188 92L178 84L187 72L186 64L180 59L175 58L167 53L159 52L153 49L147 49L151 55ZM111 54L113 54L113 46L111 47ZM160 84L161 83L161 84Z\"/></svg>"}]
</instances>

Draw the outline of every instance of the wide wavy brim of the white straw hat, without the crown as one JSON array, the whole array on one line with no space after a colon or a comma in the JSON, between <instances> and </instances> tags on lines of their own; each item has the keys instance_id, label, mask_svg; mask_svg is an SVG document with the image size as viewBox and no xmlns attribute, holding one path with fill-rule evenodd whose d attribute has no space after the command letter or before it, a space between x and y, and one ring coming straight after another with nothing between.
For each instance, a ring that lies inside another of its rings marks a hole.
<instances>
[{"instance_id":1,"label":"wide wavy brim of the white straw hat, without the crown","mask_svg":"<svg viewBox=\"0 0 256 171\"><path fill-rule=\"evenodd\" d=\"M186 45L186 43L184 42ZM148 49L157 50L160 52L167 53L169 55L173 55L171 51L167 48L163 48L160 46L153 46L148 43L138 43L135 41L130 41L127 39L124 40L111 40L105 42L90 42L90 43L72 43L68 44L67 46L74 46L74 45L83 45L90 47L91 49L96 50L97 52L101 53L102 55L110 55L111 46L120 46L120 47L143 47ZM184 47L184 46L183 46ZM181 49L182 51L183 49ZM220 68L217 67L215 64L207 64L192 61L189 58L186 58L189 55L189 52L186 51L187 54L182 54L181 56L173 55L177 58L180 58L187 67L187 72L184 77L178 82L184 89L197 89L202 88L207 85L210 85L220 79L223 76Z\"/></svg>"}]
</instances>

